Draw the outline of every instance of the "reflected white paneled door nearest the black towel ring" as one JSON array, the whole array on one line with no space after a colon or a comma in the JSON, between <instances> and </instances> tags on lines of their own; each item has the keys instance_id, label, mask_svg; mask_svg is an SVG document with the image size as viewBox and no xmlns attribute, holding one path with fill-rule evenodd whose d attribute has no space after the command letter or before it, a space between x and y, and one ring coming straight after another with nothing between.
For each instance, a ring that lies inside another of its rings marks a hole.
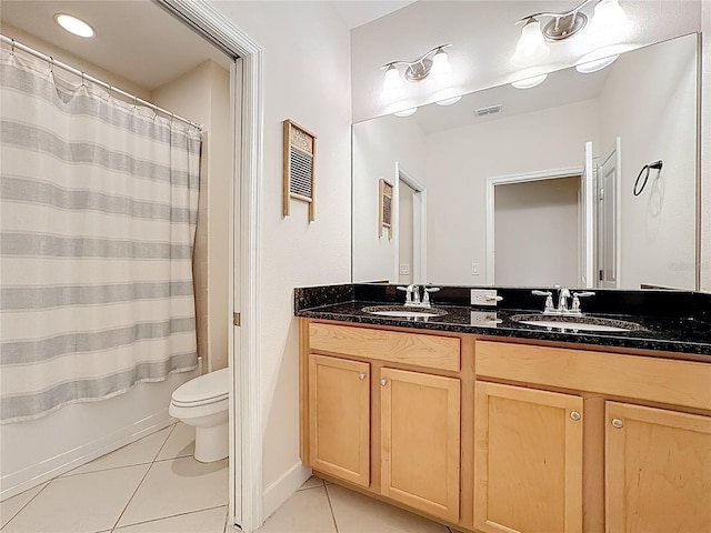
<instances>
[{"instance_id":1,"label":"reflected white paneled door nearest the black towel ring","mask_svg":"<svg viewBox=\"0 0 711 533\"><path fill-rule=\"evenodd\" d=\"M598 168L597 286L620 286L620 138L602 157Z\"/></svg>"}]
</instances>

